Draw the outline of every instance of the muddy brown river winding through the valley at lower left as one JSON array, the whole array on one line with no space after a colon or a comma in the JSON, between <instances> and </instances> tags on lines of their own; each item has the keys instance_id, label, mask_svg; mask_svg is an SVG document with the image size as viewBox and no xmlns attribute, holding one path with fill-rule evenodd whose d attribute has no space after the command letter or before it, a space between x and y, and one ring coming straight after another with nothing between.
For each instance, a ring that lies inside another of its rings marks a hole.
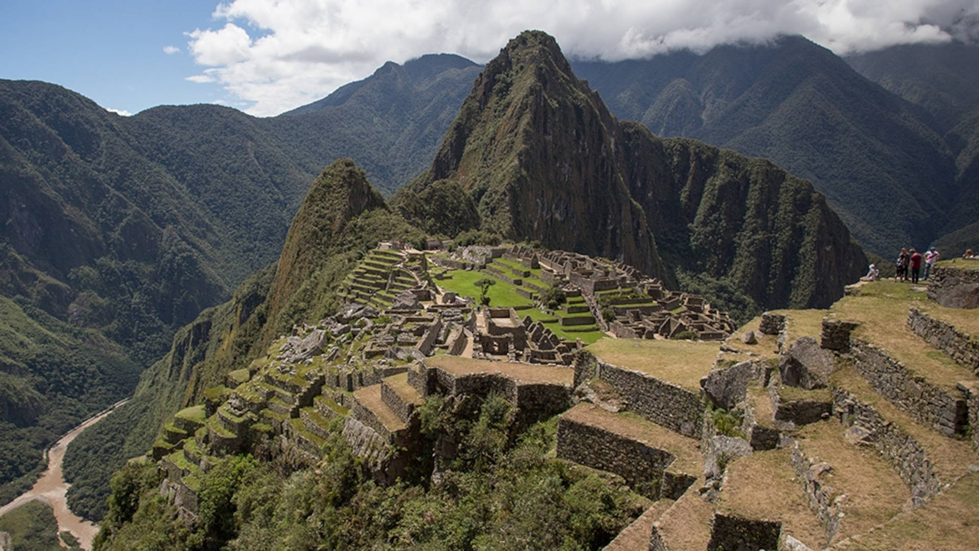
<instances>
[{"instance_id":1,"label":"muddy brown river winding through the valley at lower left","mask_svg":"<svg viewBox=\"0 0 979 551\"><path fill-rule=\"evenodd\" d=\"M68 530L71 535L78 538L78 544L82 549L88 550L92 548L92 539L95 538L95 534L99 533L99 526L95 526L92 523L85 521L84 519L71 513L68 508L68 502L65 499L66 492L68 492L69 483L65 481L65 477L62 476L62 461L65 459L65 450L74 440L78 434L81 434L83 430L89 426L93 426L104 417L112 413L114 409L122 404L126 403L128 398L121 400L109 409L99 413L95 417L92 417L82 423L79 426L75 426L71 431L61 437L60 440L55 442L55 445L48 449L48 469L41 474L41 477L34 482L34 486L29 490L23 492L23 494L17 496L14 501L11 501L7 505L0 507L0 517L5 515L7 512L17 509L25 503L37 500L51 507L54 511L55 519L58 521L58 531Z\"/></svg>"}]
</instances>

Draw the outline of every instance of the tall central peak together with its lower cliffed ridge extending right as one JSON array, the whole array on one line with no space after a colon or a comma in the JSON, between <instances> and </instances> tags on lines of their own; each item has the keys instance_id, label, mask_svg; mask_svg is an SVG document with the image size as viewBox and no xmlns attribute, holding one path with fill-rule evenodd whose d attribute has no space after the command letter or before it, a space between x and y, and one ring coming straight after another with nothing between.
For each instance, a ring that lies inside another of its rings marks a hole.
<instances>
[{"instance_id":1,"label":"tall central peak together with its lower cliffed ridge extending right","mask_svg":"<svg viewBox=\"0 0 979 551\"><path fill-rule=\"evenodd\" d=\"M453 215L420 208L432 201L418 197L453 186L479 219L446 228ZM541 32L489 62L432 168L393 202L430 231L479 227L620 258L742 316L827 306L866 264L809 182L620 123Z\"/></svg>"}]
</instances>

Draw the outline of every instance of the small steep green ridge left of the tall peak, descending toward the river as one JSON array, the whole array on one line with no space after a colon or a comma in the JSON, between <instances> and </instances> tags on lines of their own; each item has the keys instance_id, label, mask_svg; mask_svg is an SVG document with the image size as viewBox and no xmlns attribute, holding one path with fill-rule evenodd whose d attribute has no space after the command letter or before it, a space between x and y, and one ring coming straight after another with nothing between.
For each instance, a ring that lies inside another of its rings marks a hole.
<instances>
[{"instance_id":1,"label":"small steep green ridge left of the tall peak, descending toward the river","mask_svg":"<svg viewBox=\"0 0 979 551\"><path fill-rule=\"evenodd\" d=\"M297 320L338 307L335 291L356 260L381 239L424 237L392 213L365 173L340 159L317 176L279 260L243 282L231 300L177 332L170 351L140 378L129 403L72 443L65 476L72 510L101 520L109 479L153 444L165 420L199 404L232 370L262 354Z\"/></svg>"}]
</instances>

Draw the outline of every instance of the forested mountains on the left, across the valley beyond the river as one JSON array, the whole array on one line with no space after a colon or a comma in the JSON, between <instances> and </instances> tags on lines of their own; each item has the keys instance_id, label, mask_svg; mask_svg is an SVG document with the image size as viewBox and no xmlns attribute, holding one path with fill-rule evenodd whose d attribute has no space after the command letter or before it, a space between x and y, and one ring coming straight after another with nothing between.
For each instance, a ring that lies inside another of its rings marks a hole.
<instances>
[{"instance_id":1,"label":"forested mountains on the left, across the valley beyond the river","mask_svg":"<svg viewBox=\"0 0 979 551\"><path fill-rule=\"evenodd\" d=\"M476 72L458 56L388 64L271 119L213 105L124 118L0 80L0 296L11 327L30 327L0 342L0 501L57 434L129 394L179 327L275 260L324 165L355 157L389 191L423 170Z\"/></svg>"}]
</instances>

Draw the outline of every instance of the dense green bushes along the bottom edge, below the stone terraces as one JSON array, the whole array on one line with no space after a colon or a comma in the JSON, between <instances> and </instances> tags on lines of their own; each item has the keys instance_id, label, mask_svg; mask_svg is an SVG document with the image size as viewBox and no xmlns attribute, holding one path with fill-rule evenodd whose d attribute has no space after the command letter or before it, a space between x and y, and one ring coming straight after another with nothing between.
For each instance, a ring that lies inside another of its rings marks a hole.
<instances>
[{"instance_id":1,"label":"dense green bushes along the bottom edge, below the stone terraces","mask_svg":"<svg viewBox=\"0 0 979 551\"><path fill-rule=\"evenodd\" d=\"M531 426L509 447L513 410L499 396L463 409L433 397L420 415L430 445L440 437L460 443L441 483L379 486L333 432L315 472L286 475L245 456L219 460L200 476L201 519L187 528L160 495L156 468L129 465L113 478L95 548L468 551L534 541L534 548L599 549L648 504L551 458L556 419Z\"/></svg>"}]
</instances>

